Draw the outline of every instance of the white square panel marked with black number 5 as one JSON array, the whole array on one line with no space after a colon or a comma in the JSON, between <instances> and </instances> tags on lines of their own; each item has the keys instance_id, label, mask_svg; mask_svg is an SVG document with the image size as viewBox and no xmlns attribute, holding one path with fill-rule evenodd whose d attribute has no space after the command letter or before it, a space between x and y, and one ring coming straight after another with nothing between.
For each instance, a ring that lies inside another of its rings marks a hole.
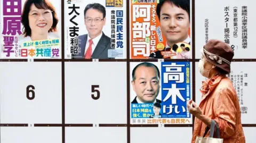
<instances>
[{"instance_id":1,"label":"white square panel marked with black number 5","mask_svg":"<svg viewBox=\"0 0 256 143\"><path fill-rule=\"evenodd\" d=\"M127 123L126 62L67 62L65 84L66 123Z\"/></svg>"}]
</instances>

